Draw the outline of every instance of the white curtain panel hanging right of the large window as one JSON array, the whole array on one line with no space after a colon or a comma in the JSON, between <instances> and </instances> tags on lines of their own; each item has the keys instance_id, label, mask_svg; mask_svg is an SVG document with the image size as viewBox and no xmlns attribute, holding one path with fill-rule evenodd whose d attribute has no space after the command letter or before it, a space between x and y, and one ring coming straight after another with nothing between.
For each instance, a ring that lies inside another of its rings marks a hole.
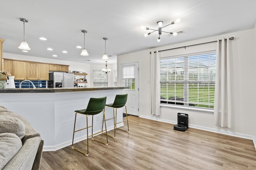
<instances>
[{"instance_id":1,"label":"white curtain panel hanging right of the large window","mask_svg":"<svg viewBox=\"0 0 256 170\"><path fill-rule=\"evenodd\" d=\"M214 100L215 126L231 128L232 97L229 38L217 40L217 68Z\"/></svg>"}]
</instances>

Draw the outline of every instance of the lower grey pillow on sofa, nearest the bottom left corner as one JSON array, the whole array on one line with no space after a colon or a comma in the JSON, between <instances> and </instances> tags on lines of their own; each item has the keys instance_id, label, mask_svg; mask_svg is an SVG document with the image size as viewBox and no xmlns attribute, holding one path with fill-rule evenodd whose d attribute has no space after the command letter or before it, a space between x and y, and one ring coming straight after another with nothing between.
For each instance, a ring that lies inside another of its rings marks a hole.
<instances>
[{"instance_id":1,"label":"lower grey pillow on sofa, nearest the bottom left corner","mask_svg":"<svg viewBox=\"0 0 256 170\"><path fill-rule=\"evenodd\" d=\"M0 134L0 169L3 169L8 164L21 147L22 142L16 134Z\"/></svg>"}]
</instances>

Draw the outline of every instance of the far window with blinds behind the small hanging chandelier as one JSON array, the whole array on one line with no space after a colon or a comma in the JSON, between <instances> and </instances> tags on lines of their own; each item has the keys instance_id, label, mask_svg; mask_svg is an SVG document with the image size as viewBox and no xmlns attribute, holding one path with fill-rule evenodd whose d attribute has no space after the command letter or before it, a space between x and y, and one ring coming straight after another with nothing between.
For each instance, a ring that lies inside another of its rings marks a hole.
<instances>
[{"instance_id":1,"label":"far window with blinds behind the small hanging chandelier","mask_svg":"<svg viewBox=\"0 0 256 170\"><path fill-rule=\"evenodd\" d=\"M108 74L102 70L94 70L93 87L108 87Z\"/></svg>"}]
</instances>

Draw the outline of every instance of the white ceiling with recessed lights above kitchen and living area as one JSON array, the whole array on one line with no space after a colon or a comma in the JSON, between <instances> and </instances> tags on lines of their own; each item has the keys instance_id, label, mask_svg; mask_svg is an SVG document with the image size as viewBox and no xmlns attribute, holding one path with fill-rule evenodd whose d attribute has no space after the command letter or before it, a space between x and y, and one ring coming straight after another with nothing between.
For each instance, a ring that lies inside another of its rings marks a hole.
<instances>
[{"instance_id":1,"label":"white ceiling with recessed lights above kitchen and living area","mask_svg":"<svg viewBox=\"0 0 256 170\"><path fill-rule=\"evenodd\" d=\"M103 37L109 64L116 63L116 55L153 47L186 42L254 28L256 0L2 0L0 10L0 38L5 39L3 51L34 57L54 58L80 63L105 63ZM25 36L31 50L22 52L18 46ZM174 37L158 33L148 37L140 26L158 29L181 18L178 24L163 28L166 32L184 30ZM84 34L89 56L81 56ZM47 38L47 41L39 40ZM51 47L53 51L46 50ZM63 50L68 53L62 53ZM52 57L53 54L58 57ZM91 61L85 61L85 60Z\"/></svg>"}]
</instances>

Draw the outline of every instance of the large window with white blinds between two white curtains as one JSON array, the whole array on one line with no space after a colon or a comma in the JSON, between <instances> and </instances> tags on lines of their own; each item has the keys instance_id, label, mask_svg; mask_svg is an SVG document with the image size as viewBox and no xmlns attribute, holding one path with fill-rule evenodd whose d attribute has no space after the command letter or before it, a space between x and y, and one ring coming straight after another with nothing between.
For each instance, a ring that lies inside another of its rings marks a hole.
<instances>
[{"instance_id":1,"label":"large window with white blinds between two white curtains","mask_svg":"<svg viewBox=\"0 0 256 170\"><path fill-rule=\"evenodd\" d=\"M214 108L216 53L160 60L160 103Z\"/></svg>"}]
</instances>

